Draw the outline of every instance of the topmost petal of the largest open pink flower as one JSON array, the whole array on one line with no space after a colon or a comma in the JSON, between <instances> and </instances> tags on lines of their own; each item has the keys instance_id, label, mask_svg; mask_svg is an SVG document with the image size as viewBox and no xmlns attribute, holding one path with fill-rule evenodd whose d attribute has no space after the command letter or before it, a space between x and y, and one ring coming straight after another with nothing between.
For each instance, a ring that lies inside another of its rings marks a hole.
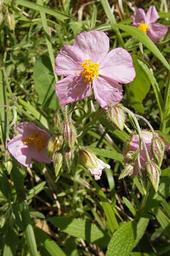
<instances>
[{"instance_id":1,"label":"topmost petal of the largest open pink flower","mask_svg":"<svg viewBox=\"0 0 170 256\"><path fill-rule=\"evenodd\" d=\"M86 59L91 59L92 63L100 63L109 51L109 38L101 31L82 32L76 36L74 46L81 49Z\"/></svg>"}]
</instances>

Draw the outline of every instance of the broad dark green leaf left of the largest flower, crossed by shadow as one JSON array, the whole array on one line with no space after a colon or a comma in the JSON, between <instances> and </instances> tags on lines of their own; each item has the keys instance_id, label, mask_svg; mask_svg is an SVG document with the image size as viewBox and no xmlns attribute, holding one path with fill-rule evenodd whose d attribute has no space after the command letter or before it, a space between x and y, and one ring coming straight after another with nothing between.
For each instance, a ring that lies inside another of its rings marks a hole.
<instances>
[{"instance_id":1,"label":"broad dark green leaf left of the largest flower, crossed by shadow","mask_svg":"<svg viewBox=\"0 0 170 256\"><path fill-rule=\"evenodd\" d=\"M55 93L55 79L50 59L42 55L36 60L33 67L33 81L35 90L39 94L39 104L43 108L57 109L57 96Z\"/></svg>"}]
</instances>

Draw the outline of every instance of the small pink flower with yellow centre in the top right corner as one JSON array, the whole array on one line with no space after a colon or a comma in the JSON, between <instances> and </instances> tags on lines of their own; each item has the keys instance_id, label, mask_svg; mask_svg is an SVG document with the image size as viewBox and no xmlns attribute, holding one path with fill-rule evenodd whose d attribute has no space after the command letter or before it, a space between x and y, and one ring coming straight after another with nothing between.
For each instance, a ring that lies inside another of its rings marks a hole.
<instances>
[{"instance_id":1,"label":"small pink flower with yellow centre in the top right corner","mask_svg":"<svg viewBox=\"0 0 170 256\"><path fill-rule=\"evenodd\" d=\"M155 23L159 19L155 6L151 5L145 14L141 8L137 9L132 16L133 26L145 32L155 43L167 34L168 28L160 23Z\"/></svg>"}]
</instances>

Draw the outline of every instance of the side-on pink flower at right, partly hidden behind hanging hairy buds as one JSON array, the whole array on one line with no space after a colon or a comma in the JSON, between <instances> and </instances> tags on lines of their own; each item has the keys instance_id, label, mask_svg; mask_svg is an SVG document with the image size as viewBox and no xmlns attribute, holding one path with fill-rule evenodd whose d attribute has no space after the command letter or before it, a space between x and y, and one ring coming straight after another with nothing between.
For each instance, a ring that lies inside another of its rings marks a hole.
<instances>
[{"instance_id":1,"label":"side-on pink flower at right, partly hidden behind hanging hairy buds","mask_svg":"<svg viewBox=\"0 0 170 256\"><path fill-rule=\"evenodd\" d=\"M146 147L147 147L147 151L148 154L150 156L150 159L153 160L154 159L154 155L152 154L152 150L151 150L151 144L152 144L152 133L150 131L147 130L142 130L142 141L145 142ZM156 137L162 139L158 134L155 134ZM162 139L163 141L163 139ZM128 141L125 144L125 148L122 152L123 156L124 156L124 160L125 163L129 162L129 158L126 158L126 154L131 151L130 153L133 153L135 151L137 151L137 149L139 148L139 135L137 133L133 133L130 138L128 139ZM170 147L167 143L165 143L165 150L169 150ZM156 150L156 148L155 148ZM141 167L143 169L145 169L146 167L146 163L147 161L147 157L146 157L146 151L145 151L145 147L142 146L142 150L139 153L140 154L140 162L141 162ZM135 160L135 164L134 164L134 172L133 175L138 174L138 160Z\"/></svg>"}]
</instances>

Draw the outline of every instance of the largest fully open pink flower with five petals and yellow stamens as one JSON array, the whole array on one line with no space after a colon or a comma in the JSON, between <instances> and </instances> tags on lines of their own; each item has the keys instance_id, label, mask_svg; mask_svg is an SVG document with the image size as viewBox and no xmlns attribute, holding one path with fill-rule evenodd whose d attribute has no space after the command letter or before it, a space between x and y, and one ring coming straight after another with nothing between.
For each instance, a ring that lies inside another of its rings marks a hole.
<instances>
[{"instance_id":1,"label":"largest fully open pink flower with five petals and yellow stamens","mask_svg":"<svg viewBox=\"0 0 170 256\"><path fill-rule=\"evenodd\" d=\"M133 81L135 69L130 54L123 48L109 51L109 38L104 32L88 31L76 36L73 46L65 45L56 57L55 72L66 78L56 83L56 94L62 105L90 96L107 109L122 99L119 83Z\"/></svg>"}]
</instances>

